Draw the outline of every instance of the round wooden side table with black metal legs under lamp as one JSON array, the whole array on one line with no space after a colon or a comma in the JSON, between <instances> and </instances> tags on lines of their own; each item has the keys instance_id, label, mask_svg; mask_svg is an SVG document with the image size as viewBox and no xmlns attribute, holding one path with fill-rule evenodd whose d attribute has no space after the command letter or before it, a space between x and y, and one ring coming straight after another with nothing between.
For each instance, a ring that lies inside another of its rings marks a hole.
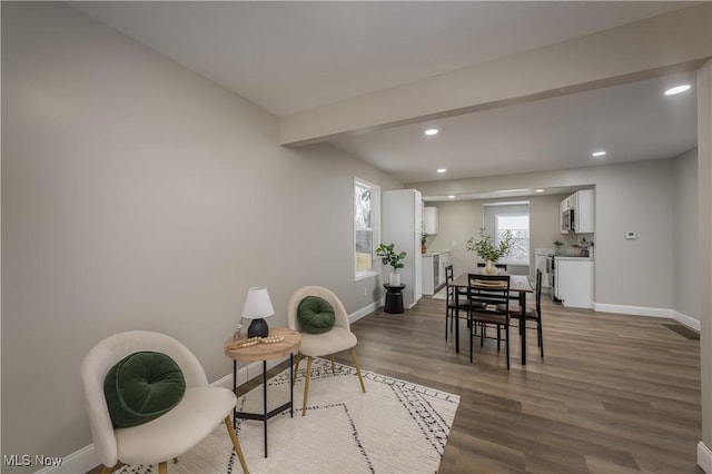
<instances>
[{"instance_id":1,"label":"round wooden side table with black metal legs under lamp","mask_svg":"<svg viewBox=\"0 0 712 474\"><path fill-rule=\"evenodd\" d=\"M294 355L299 350L301 345L301 335L296 330L286 327L270 327L269 337L283 336L285 339L280 343L259 343L249 347L240 347L247 339L228 339L225 342L225 355L233 359L233 392L237 391L237 362L263 362L263 413L238 412L237 406L233 409L233 424L237 418L259 419L265 426L265 457L267 457L267 421L273 416L289 408L291 417L294 417L294 388L293 372ZM284 357L289 354L289 402L278 406L267 413L267 361Z\"/></svg>"}]
</instances>

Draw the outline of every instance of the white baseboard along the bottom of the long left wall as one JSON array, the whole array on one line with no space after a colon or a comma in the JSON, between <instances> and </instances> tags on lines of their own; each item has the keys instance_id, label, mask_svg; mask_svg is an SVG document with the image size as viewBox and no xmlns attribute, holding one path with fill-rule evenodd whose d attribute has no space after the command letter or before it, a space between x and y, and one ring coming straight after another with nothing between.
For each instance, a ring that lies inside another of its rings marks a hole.
<instances>
[{"instance_id":1,"label":"white baseboard along the bottom of the long left wall","mask_svg":"<svg viewBox=\"0 0 712 474\"><path fill-rule=\"evenodd\" d=\"M383 302L374 302L360 309L358 309L355 313L352 313L350 315L348 315L348 320L350 323L357 322L358 319L368 316L369 314L372 314L373 312L375 312L376 309L378 309L380 306L383 306ZM267 371L269 371L270 368L281 364L283 362L287 361L289 358L289 356L284 356L280 358L276 358L274 361L267 361ZM237 386L239 387L240 385L247 383L248 381L251 381L255 377L258 377L263 375L263 363L261 362L254 362L251 364L248 364L244 367L240 367L237 369ZM224 377L218 378L217 381L215 381L214 383L210 384L211 386L216 386L216 387L225 387L228 389L233 389L233 374L229 373L227 375L225 375ZM97 467L98 465L100 465L101 462L99 461L99 458L97 457L96 453L95 453L95 448L93 448L93 444L90 444L88 446L82 447L79 451L76 451L67 456L63 456L62 458L62 463L59 466L49 466L49 467L42 467L41 470L37 471L36 474L77 474L77 473L86 473L88 471L93 470L95 467Z\"/></svg>"}]
</instances>

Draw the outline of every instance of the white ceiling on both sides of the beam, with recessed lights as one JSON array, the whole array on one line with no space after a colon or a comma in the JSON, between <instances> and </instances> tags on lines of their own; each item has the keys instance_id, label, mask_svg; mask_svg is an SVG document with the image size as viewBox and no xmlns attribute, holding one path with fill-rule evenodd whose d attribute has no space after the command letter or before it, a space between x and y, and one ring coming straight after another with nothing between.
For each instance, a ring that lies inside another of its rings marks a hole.
<instances>
[{"instance_id":1,"label":"white ceiling on both sides of the beam, with recessed lights","mask_svg":"<svg viewBox=\"0 0 712 474\"><path fill-rule=\"evenodd\" d=\"M70 2L284 116L698 4ZM333 140L403 182L669 158L696 144L694 73ZM435 125L442 131L426 138ZM594 161L591 151L604 148ZM444 176L436 168L447 168Z\"/></svg>"}]
</instances>

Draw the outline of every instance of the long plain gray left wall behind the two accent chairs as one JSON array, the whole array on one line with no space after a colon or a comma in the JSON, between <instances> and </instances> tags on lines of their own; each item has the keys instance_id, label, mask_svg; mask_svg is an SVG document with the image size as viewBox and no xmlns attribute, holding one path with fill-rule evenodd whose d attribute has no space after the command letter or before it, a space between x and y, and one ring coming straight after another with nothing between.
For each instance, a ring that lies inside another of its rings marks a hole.
<instances>
[{"instance_id":1,"label":"long plain gray left wall behind the two accent chairs","mask_svg":"<svg viewBox=\"0 0 712 474\"><path fill-rule=\"evenodd\" d=\"M2 454L91 443L79 365L109 334L167 333L216 381L250 286L270 325L306 284L378 300L353 176L399 182L279 147L275 117L63 3L2 2Z\"/></svg>"}]
</instances>

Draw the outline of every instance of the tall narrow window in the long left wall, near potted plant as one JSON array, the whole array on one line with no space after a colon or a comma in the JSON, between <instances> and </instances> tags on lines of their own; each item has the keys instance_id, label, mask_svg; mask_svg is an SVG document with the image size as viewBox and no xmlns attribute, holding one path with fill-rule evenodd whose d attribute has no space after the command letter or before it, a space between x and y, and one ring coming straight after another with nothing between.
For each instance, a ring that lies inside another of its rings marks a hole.
<instances>
[{"instance_id":1,"label":"tall narrow window in the long left wall, near potted plant","mask_svg":"<svg viewBox=\"0 0 712 474\"><path fill-rule=\"evenodd\" d=\"M364 279L378 275L375 248L380 227L380 188L354 178L354 276Z\"/></svg>"}]
</instances>

